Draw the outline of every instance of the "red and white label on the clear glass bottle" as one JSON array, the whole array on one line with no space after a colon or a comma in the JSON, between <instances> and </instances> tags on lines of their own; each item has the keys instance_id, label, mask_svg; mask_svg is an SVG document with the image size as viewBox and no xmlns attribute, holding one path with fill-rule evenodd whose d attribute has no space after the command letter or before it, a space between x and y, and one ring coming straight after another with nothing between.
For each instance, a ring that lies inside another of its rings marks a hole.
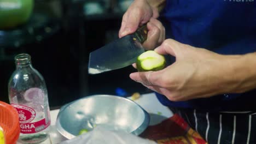
<instances>
[{"instance_id":1,"label":"red and white label on the clear glass bottle","mask_svg":"<svg viewBox=\"0 0 256 144\"><path fill-rule=\"evenodd\" d=\"M20 132L22 134L32 134L37 133L46 129L50 125L50 121L46 122L43 116L39 121L34 121L37 116L36 111L31 107L25 105L11 104L19 113L20 121Z\"/></svg>"}]
</instances>

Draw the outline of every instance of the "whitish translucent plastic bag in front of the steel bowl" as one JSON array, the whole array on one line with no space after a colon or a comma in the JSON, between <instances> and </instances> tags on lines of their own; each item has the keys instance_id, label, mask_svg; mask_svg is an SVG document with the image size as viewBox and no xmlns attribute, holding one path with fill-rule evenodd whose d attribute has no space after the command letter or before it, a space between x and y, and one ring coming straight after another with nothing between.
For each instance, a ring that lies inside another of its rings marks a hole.
<instances>
[{"instance_id":1,"label":"whitish translucent plastic bag in front of the steel bowl","mask_svg":"<svg viewBox=\"0 0 256 144\"><path fill-rule=\"evenodd\" d=\"M156 144L154 141L142 139L133 134L124 131L109 131L100 127L79 135L71 140L61 142L60 144Z\"/></svg>"}]
</instances>

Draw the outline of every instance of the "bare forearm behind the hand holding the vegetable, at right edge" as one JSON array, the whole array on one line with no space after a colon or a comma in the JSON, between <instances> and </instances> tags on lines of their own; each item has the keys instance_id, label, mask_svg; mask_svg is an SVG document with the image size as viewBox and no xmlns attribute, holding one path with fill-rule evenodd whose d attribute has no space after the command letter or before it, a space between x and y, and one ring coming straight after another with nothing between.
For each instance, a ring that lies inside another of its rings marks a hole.
<instances>
[{"instance_id":1,"label":"bare forearm behind the hand holding the vegetable, at right edge","mask_svg":"<svg viewBox=\"0 0 256 144\"><path fill-rule=\"evenodd\" d=\"M256 52L228 56L228 93L242 93L256 88ZM224 70L225 71L225 70Z\"/></svg>"}]
</instances>

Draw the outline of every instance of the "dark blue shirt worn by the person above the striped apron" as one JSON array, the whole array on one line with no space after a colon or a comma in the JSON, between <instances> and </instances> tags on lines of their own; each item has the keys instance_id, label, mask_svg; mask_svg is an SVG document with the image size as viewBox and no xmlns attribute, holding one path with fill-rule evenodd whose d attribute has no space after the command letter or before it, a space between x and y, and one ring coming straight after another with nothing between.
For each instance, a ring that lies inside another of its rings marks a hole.
<instances>
[{"instance_id":1,"label":"dark blue shirt worn by the person above the striped apron","mask_svg":"<svg viewBox=\"0 0 256 144\"><path fill-rule=\"evenodd\" d=\"M180 43L224 55L256 51L254 0L167 0L161 16L166 19L167 38ZM256 90L181 102L170 101L158 93L156 95L163 105L171 107L207 111L256 110Z\"/></svg>"}]
</instances>

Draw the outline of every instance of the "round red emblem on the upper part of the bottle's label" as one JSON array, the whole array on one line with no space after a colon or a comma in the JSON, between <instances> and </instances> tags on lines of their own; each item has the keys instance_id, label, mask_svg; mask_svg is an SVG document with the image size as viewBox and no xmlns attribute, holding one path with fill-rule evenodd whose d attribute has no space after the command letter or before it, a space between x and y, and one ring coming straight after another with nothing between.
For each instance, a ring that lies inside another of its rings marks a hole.
<instances>
[{"instance_id":1,"label":"round red emblem on the upper part of the bottle's label","mask_svg":"<svg viewBox=\"0 0 256 144\"><path fill-rule=\"evenodd\" d=\"M24 105L11 104L19 113L20 123L29 123L36 117L36 111Z\"/></svg>"}]
</instances>

